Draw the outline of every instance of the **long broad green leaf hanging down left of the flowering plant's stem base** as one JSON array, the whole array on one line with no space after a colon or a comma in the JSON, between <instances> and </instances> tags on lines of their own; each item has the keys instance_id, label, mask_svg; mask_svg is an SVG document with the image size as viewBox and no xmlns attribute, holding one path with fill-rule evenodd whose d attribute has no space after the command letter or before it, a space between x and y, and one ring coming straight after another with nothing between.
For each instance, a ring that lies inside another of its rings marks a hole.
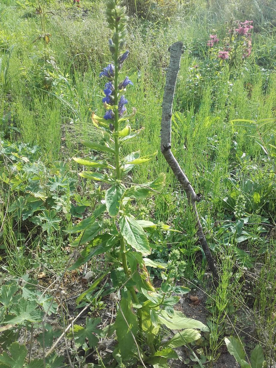
<instances>
[{"instance_id":1,"label":"long broad green leaf hanging down left of the flowering plant's stem base","mask_svg":"<svg viewBox=\"0 0 276 368\"><path fill-rule=\"evenodd\" d=\"M129 291L122 294L120 307L121 310L119 309L115 321L115 329L118 340L118 348L120 350L122 360L125 360L125 358L131 355L131 350L134 347L134 340L131 332L134 336L136 336L138 330L138 319L132 308L132 301ZM125 322L122 312L128 322L131 332L127 323Z\"/></svg>"}]
</instances>

